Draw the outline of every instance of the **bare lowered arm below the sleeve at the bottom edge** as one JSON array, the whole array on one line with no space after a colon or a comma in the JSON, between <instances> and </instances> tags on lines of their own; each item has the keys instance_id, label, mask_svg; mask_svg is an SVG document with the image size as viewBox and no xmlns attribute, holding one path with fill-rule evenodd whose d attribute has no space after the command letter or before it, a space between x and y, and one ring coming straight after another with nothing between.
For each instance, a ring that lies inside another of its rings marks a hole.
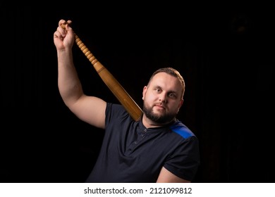
<instances>
[{"instance_id":1,"label":"bare lowered arm below the sleeve at the bottom edge","mask_svg":"<svg viewBox=\"0 0 275 197\"><path fill-rule=\"evenodd\" d=\"M190 183L190 181L181 179L169 170L166 170L165 167L162 167L157 179L157 183Z\"/></svg>"}]
</instances>

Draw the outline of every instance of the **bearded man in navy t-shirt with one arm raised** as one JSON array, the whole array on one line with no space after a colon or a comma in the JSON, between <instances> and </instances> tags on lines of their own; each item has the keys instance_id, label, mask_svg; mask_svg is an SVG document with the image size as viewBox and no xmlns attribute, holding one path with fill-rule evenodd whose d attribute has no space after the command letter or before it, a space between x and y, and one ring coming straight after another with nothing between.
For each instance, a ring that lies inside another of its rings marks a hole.
<instances>
[{"instance_id":1,"label":"bearded man in navy t-shirt with one arm raised","mask_svg":"<svg viewBox=\"0 0 275 197\"><path fill-rule=\"evenodd\" d=\"M185 91L180 73L173 68L153 73L142 91L142 117L135 121L123 106L83 93L73 64L75 37L70 24L71 20L60 20L54 32L59 92L80 120L105 129L86 182L191 182L200 163L199 144L176 119Z\"/></svg>"}]
</instances>

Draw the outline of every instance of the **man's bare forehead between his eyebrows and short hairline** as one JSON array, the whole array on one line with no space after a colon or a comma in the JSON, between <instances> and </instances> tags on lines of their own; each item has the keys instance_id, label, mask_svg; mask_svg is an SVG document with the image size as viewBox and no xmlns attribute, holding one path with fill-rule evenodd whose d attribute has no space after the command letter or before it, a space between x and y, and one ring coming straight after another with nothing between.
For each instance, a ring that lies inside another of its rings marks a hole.
<instances>
[{"instance_id":1,"label":"man's bare forehead between his eyebrows and short hairline","mask_svg":"<svg viewBox=\"0 0 275 197\"><path fill-rule=\"evenodd\" d=\"M181 91L181 82L177 77L167 74L166 72L159 72L149 82L152 86L165 87L166 89L178 89Z\"/></svg>"}]
</instances>

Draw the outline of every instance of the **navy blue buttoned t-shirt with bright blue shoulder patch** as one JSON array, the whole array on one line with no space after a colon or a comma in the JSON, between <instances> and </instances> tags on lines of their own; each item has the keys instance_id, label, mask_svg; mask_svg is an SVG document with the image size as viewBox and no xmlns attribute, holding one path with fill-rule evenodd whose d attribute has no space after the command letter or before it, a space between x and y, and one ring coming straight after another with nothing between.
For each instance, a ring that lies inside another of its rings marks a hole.
<instances>
[{"instance_id":1,"label":"navy blue buttoned t-shirt with bright blue shoulder patch","mask_svg":"<svg viewBox=\"0 0 275 197\"><path fill-rule=\"evenodd\" d=\"M192 181L200 163L198 139L182 122L146 128L123 106L107 103L102 148L86 182L157 182L161 167Z\"/></svg>"}]
</instances>

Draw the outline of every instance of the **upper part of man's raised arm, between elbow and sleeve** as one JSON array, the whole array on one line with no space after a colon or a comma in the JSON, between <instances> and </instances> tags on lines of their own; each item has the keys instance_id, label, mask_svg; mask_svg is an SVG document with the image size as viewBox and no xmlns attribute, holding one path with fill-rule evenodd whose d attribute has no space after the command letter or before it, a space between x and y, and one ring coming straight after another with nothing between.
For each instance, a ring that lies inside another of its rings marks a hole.
<instances>
[{"instance_id":1,"label":"upper part of man's raised arm, between elbow and sleeve","mask_svg":"<svg viewBox=\"0 0 275 197\"><path fill-rule=\"evenodd\" d=\"M105 128L106 101L101 98L82 95L70 106L70 110L80 120L94 127Z\"/></svg>"}]
</instances>

